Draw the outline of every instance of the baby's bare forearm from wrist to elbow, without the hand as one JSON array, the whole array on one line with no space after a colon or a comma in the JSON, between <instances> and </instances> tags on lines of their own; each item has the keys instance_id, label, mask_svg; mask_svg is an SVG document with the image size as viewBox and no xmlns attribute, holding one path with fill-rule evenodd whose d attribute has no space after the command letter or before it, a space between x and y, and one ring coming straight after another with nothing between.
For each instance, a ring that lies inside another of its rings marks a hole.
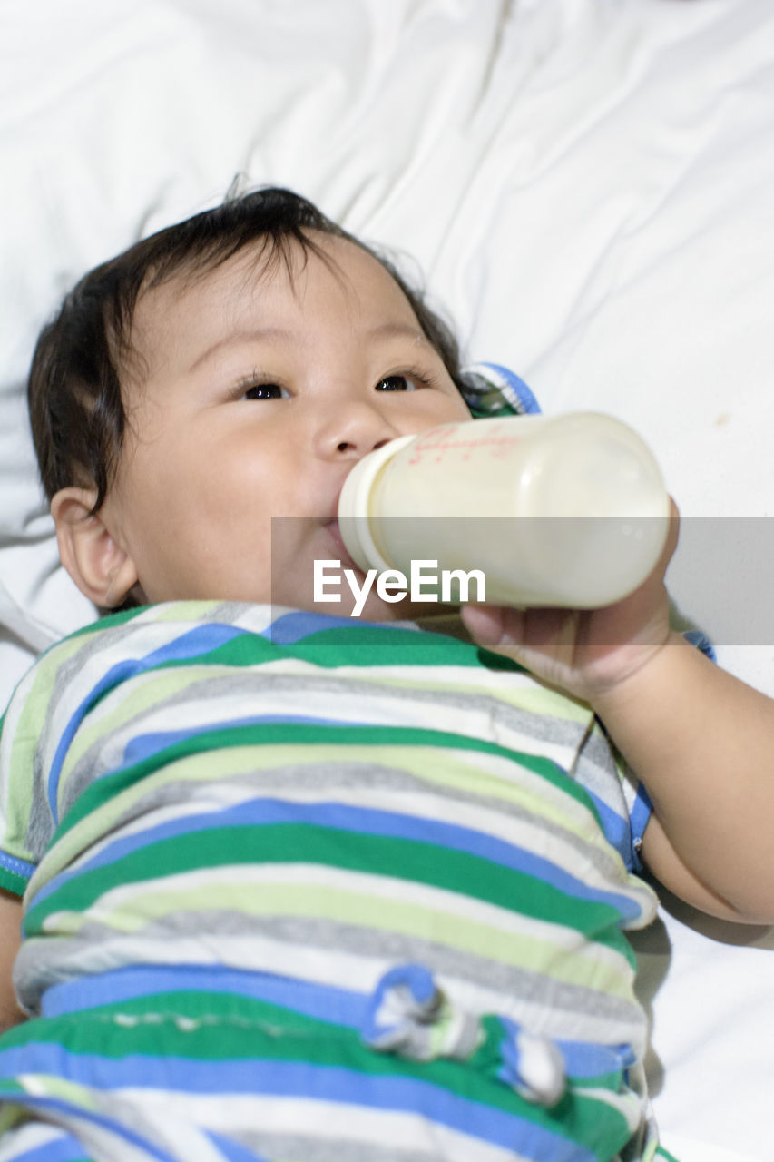
<instances>
[{"instance_id":1,"label":"baby's bare forearm from wrist to elbow, without the hand","mask_svg":"<svg viewBox=\"0 0 774 1162\"><path fill-rule=\"evenodd\" d=\"M594 709L653 802L651 871L711 914L774 923L774 702L675 634Z\"/></svg>"}]
</instances>

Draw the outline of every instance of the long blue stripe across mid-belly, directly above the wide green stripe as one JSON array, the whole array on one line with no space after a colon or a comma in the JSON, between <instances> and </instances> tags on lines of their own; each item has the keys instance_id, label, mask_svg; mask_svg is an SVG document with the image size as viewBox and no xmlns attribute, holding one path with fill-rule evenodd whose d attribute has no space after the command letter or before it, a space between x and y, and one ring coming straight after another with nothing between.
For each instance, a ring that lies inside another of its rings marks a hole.
<instances>
[{"instance_id":1,"label":"long blue stripe across mid-belly, directly above the wide green stripe","mask_svg":"<svg viewBox=\"0 0 774 1162\"><path fill-rule=\"evenodd\" d=\"M94 859L80 865L77 870L64 873L52 880L37 894L35 902L42 903L51 892L57 891L71 880L96 868L107 867L124 855L149 847L151 844L215 827L268 826L284 823L308 824L350 833L408 839L414 842L451 848L486 860L488 863L496 863L511 871L532 876L542 883L553 887L557 891L566 892L576 899L607 904L616 909L625 920L636 919L642 914L642 909L633 898L592 888L540 855L493 835L461 827L458 824L420 819L394 811L353 808L343 803L292 803L268 797L237 803L220 811L170 819L156 827L148 827L139 833L116 839ZM258 853L256 859L258 862ZM224 845L223 865L225 866L228 862L228 845ZM517 903L515 901L515 904Z\"/></svg>"}]
</instances>

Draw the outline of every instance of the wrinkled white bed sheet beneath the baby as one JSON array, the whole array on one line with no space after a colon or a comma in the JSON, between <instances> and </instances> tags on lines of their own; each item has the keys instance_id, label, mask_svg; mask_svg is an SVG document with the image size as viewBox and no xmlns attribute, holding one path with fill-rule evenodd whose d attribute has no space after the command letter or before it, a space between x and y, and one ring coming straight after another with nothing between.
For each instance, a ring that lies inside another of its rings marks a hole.
<instances>
[{"instance_id":1,"label":"wrinkled white bed sheet beneath the baby","mask_svg":"<svg viewBox=\"0 0 774 1162\"><path fill-rule=\"evenodd\" d=\"M6 0L0 21L0 704L94 614L36 483L37 330L236 173L415 256L467 354L544 410L633 424L687 517L681 611L774 694L769 0ZM679 908L638 939L683 1162L774 1160L773 951Z\"/></svg>"}]
</instances>

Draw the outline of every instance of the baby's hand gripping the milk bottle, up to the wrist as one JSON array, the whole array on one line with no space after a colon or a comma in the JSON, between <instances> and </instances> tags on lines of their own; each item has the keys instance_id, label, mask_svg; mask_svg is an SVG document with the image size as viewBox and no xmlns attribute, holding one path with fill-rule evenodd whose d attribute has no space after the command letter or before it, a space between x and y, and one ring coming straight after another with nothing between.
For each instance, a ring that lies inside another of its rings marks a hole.
<instances>
[{"instance_id":1,"label":"baby's hand gripping the milk bottle, up to the wrist","mask_svg":"<svg viewBox=\"0 0 774 1162\"><path fill-rule=\"evenodd\" d=\"M658 565L635 593L603 609L466 605L473 639L592 705L645 666L669 639L666 567L678 544L678 509Z\"/></svg>"}]
</instances>

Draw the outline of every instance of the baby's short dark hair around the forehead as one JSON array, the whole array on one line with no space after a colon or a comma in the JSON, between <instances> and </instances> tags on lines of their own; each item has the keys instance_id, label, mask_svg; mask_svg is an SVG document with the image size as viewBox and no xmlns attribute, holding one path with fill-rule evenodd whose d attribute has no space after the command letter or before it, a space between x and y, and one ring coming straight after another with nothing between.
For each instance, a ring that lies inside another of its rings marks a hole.
<instances>
[{"instance_id":1,"label":"baby's short dark hair around the forehead","mask_svg":"<svg viewBox=\"0 0 774 1162\"><path fill-rule=\"evenodd\" d=\"M263 241L268 265L291 260L293 245L320 254L309 231L346 238L373 254L395 279L424 335L461 387L459 349L450 328L394 264L289 189L267 187L227 196L95 267L67 294L37 340L28 382L33 439L49 500L60 488L94 488L98 511L121 452L127 415L121 375L131 354L137 300L177 275L208 273ZM289 265L288 265L289 268Z\"/></svg>"}]
</instances>

